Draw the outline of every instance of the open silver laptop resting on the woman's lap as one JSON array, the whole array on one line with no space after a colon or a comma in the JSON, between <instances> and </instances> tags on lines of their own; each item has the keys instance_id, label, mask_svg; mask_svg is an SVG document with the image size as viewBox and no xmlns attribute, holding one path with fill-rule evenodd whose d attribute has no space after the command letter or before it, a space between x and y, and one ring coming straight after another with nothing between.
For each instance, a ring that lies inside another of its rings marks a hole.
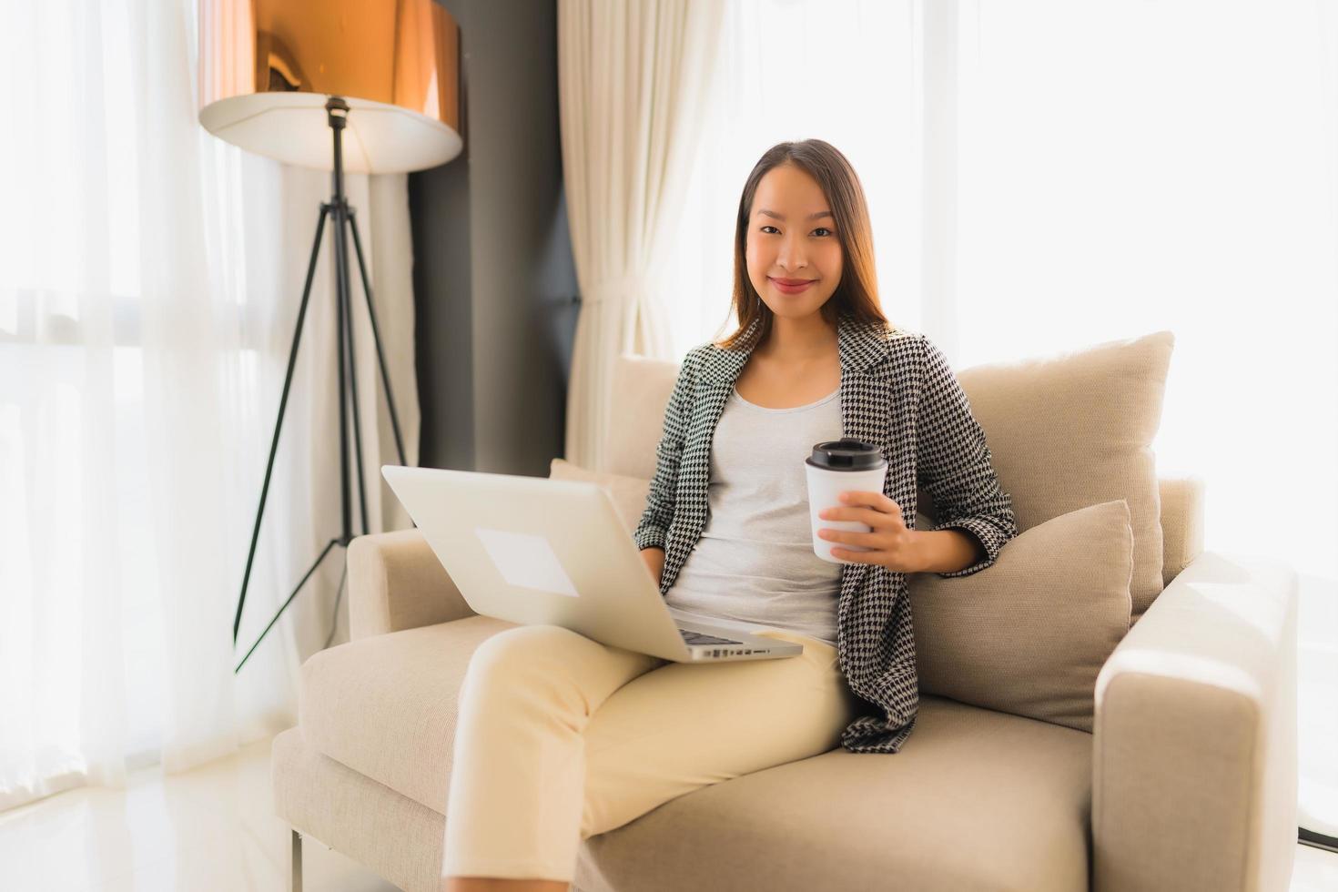
<instances>
[{"instance_id":1,"label":"open silver laptop resting on the woman's lap","mask_svg":"<svg viewBox=\"0 0 1338 892\"><path fill-rule=\"evenodd\" d=\"M476 614L680 663L804 653L753 634L769 626L666 604L597 483L400 465L381 475Z\"/></svg>"}]
</instances>

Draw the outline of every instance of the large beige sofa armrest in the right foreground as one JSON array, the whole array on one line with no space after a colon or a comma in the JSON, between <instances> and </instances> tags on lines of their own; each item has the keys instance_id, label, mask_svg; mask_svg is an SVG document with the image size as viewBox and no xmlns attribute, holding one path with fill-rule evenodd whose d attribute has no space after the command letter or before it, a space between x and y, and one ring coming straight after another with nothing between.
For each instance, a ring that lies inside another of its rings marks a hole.
<instances>
[{"instance_id":1,"label":"large beige sofa armrest in the right foreground","mask_svg":"<svg viewBox=\"0 0 1338 892\"><path fill-rule=\"evenodd\" d=\"M1286 892L1297 574L1203 552L1096 679L1093 889Z\"/></svg>"}]
</instances>

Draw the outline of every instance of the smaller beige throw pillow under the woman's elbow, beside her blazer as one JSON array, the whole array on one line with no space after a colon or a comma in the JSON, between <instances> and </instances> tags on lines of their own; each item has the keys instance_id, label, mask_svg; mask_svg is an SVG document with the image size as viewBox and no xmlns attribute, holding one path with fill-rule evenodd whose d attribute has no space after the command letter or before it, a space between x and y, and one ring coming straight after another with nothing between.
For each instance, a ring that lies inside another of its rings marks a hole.
<instances>
[{"instance_id":1,"label":"smaller beige throw pillow under the woman's elbow, beside her blazer","mask_svg":"<svg viewBox=\"0 0 1338 892\"><path fill-rule=\"evenodd\" d=\"M909 578L922 693L1092 730L1096 677L1129 630L1124 500L1032 527L989 572Z\"/></svg>"}]
</instances>

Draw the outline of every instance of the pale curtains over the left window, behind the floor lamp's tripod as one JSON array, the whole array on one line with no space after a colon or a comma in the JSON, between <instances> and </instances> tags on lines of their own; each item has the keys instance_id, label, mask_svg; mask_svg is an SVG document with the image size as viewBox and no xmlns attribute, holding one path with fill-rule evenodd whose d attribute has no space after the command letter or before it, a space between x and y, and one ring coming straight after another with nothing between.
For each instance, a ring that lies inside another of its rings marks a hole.
<instances>
[{"instance_id":1,"label":"pale curtains over the left window, behind the floor lamp's tripod","mask_svg":"<svg viewBox=\"0 0 1338 892\"><path fill-rule=\"evenodd\" d=\"M298 666L332 635L337 548L233 673L340 532L333 251L234 653L329 185L195 123L195 27L194 0L0 7L0 808L145 764L182 770L290 726ZM413 463L405 190L403 175L348 183ZM383 499L377 468L397 459L357 288L353 313L369 526L408 526Z\"/></svg>"}]
</instances>

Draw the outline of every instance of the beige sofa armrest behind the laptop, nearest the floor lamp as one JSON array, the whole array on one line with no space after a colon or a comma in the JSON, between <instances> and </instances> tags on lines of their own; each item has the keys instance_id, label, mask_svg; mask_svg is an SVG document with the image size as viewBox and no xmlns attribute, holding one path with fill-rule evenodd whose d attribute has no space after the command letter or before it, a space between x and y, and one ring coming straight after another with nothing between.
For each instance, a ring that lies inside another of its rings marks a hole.
<instances>
[{"instance_id":1,"label":"beige sofa armrest behind the laptop, nearest the floor lamp","mask_svg":"<svg viewBox=\"0 0 1338 892\"><path fill-rule=\"evenodd\" d=\"M348 543L351 639L472 615L417 528L376 532Z\"/></svg>"}]
</instances>

